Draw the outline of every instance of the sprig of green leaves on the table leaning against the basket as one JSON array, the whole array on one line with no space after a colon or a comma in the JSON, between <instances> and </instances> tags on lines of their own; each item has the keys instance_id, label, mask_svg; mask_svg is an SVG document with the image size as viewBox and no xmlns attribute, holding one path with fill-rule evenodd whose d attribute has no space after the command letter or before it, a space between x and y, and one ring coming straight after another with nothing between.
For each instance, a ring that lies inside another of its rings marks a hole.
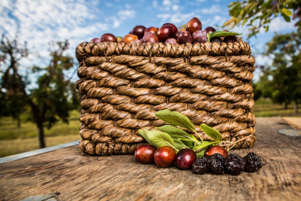
<instances>
[{"instance_id":1,"label":"sprig of green leaves on the table leaning against the basket","mask_svg":"<svg viewBox=\"0 0 301 201\"><path fill-rule=\"evenodd\" d=\"M215 141L203 141L199 133L195 130L190 119L180 112L165 109L157 111L155 115L162 121L171 125L156 127L158 130L138 130L138 133L144 137L148 143L157 148L161 146L170 146L175 149L176 152L180 149L189 148L197 153L197 158L200 158L204 155L205 150L210 146L217 144L221 145L221 143L230 143L233 146L236 144L235 142L233 144L233 142L222 141L221 133L206 124L201 124L200 128L207 136L211 137ZM200 138L200 141L194 137L194 135L191 135L176 126L191 130ZM231 148L228 148L228 150Z\"/></svg>"}]
</instances>

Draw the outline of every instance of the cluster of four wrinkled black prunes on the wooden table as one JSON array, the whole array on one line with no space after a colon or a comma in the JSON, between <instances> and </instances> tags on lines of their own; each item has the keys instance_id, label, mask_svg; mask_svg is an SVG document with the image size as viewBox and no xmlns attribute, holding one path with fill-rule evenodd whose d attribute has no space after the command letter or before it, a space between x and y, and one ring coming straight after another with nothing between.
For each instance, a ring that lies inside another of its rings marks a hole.
<instances>
[{"instance_id":1,"label":"cluster of four wrinkled black prunes on the wooden table","mask_svg":"<svg viewBox=\"0 0 301 201\"><path fill-rule=\"evenodd\" d=\"M243 171L255 172L262 167L262 162L258 155L253 152L248 153L244 158L238 154L229 154L224 158L216 153L203 156L192 165L194 174L205 174L212 171L215 174L229 173L239 175Z\"/></svg>"}]
</instances>

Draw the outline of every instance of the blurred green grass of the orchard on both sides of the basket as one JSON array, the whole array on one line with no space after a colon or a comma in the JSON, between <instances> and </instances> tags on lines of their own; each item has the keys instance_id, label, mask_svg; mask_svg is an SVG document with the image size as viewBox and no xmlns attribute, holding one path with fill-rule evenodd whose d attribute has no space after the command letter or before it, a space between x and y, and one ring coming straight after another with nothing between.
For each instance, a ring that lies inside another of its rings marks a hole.
<instances>
[{"instance_id":1,"label":"blurred green grass of the orchard on both sides of the basket","mask_svg":"<svg viewBox=\"0 0 301 201\"><path fill-rule=\"evenodd\" d=\"M80 140L79 111L70 112L69 124L58 122L50 130L45 129L46 146ZM254 114L256 117L272 116L301 116L293 114L293 105L284 109L283 105L261 99L255 102ZM10 117L0 119L0 157L38 149L36 126L31 122L24 122L17 128L17 122Z\"/></svg>"}]
</instances>

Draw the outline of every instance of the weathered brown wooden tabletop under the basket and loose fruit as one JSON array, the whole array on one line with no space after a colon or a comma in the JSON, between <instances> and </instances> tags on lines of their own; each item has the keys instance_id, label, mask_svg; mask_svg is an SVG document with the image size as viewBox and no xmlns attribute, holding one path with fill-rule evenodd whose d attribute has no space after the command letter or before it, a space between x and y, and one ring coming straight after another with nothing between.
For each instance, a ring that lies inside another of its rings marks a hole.
<instances>
[{"instance_id":1,"label":"weathered brown wooden tabletop under the basket and loose fruit","mask_svg":"<svg viewBox=\"0 0 301 201\"><path fill-rule=\"evenodd\" d=\"M0 200L59 192L57 200L301 200L301 138L277 133L283 118L257 118L255 173L193 174L143 165L133 155L90 156L77 146L0 164Z\"/></svg>"}]
</instances>

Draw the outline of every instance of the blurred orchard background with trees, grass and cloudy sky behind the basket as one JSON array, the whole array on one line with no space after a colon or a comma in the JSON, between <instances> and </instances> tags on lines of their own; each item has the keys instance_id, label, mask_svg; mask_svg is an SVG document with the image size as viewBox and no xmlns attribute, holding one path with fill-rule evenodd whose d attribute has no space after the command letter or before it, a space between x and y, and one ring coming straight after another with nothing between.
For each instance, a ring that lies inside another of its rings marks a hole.
<instances>
[{"instance_id":1,"label":"blurred orchard background with trees, grass and cloudy sky behind the basket","mask_svg":"<svg viewBox=\"0 0 301 201\"><path fill-rule=\"evenodd\" d=\"M0 157L80 140L76 46L136 25L243 33L256 58L256 117L300 117L300 0L34 1L0 4Z\"/></svg>"}]
</instances>

